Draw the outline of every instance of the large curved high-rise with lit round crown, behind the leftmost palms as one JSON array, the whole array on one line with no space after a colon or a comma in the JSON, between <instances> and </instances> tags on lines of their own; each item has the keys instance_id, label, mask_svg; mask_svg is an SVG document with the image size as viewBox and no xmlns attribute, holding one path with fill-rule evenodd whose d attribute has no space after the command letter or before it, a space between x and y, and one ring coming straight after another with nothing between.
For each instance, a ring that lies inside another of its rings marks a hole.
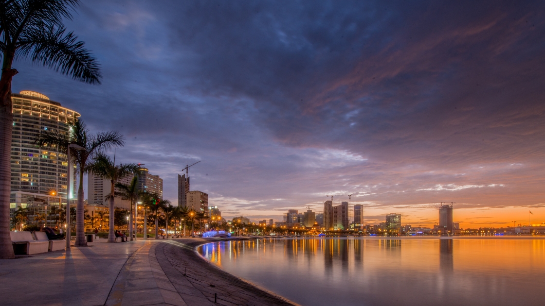
<instances>
[{"instance_id":1,"label":"large curved high-rise with lit round crown, behind the leftmost palms","mask_svg":"<svg viewBox=\"0 0 545 306\"><path fill-rule=\"evenodd\" d=\"M45 95L34 91L11 94L13 103L13 132L11 134L11 194L10 215L16 207L27 206L27 199L45 198L48 204L66 204L66 180L68 162L65 152L42 149L33 145L40 131L67 133L68 123L80 114L51 101ZM76 175L70 169L71 197L74 198ZM60 196L60 197L59 197ZM13 217L13 216L12 216Z\"/></svg>"}]
</instances>

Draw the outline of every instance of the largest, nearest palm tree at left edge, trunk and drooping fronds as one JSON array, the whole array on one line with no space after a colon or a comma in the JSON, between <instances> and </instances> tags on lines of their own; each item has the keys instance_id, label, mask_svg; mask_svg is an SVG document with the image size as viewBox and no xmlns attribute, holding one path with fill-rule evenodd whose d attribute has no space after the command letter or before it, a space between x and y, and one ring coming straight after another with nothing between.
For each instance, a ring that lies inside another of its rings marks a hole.
<instances>
[{"instance_id":1,"label":"largest, nearest palm tree at left edge, trunk and drooping fronds","mask_svg":"<svg viewBox=\"0 0 545 306\"><path fill-rule=\"evenodd\" d=\"M99 65L63 20L71 19L77 0L11 0L0 3L0 259L15 254L9 235L10 150L13 130L11 81L14 60L32 62L78 81L100 84Z\"/></svg>"}]
</instances>

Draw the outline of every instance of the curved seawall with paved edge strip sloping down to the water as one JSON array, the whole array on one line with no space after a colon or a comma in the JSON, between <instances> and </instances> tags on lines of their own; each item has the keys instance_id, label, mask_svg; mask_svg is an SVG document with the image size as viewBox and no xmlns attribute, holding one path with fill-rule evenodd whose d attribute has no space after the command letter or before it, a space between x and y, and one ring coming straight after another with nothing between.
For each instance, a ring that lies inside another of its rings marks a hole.
<instances>
[{"instance_id":1,"label":"curved seawall with paved edge strip sloping down to the water","mask_svg":"<svg viewBox=\"0 0 545 306\"><path fill-rule=\"evenodd\" d=\"M296 305L202 258L195 248L228 240L181 238L154 241L132 254L106 305Z\"/></svg>"}]
</instances>

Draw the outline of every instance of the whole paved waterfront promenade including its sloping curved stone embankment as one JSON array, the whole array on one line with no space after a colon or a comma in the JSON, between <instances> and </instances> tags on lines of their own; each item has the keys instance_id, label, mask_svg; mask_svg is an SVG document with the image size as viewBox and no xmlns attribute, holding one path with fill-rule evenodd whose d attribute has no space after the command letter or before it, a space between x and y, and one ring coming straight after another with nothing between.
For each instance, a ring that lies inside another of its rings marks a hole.
<instances>
[{"instance_id":1,"label":"whole paved waterfront promenade including its sloping curved stone embankment","mask_svg":"<svg viewBox=\"0 0 545 306\"><path fill-rule=\"evenodd\" d=\"M195 246L215 240L99 240L90 247L0 260L0 304L293 305L195 253Z\"/></svg>"}]
</instances>

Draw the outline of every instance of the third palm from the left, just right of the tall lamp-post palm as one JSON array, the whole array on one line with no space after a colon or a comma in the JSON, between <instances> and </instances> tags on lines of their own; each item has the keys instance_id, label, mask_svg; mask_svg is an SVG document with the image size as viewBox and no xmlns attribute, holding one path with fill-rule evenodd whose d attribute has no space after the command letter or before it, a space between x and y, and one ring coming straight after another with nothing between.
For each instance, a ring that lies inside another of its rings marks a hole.
<instances>
[{"instance_id":1,"label":"third palm from the left, just right of the tall lamp-post palm","mask_svg":"<svg viewBox=\"0 0 545 306\"><path fill-rule=\"evenodd\" d=\"M113 223L114 223L114 201L116 197L115 184L120 179L126 178L130 175L137 174L138 166L137 164L122 164L119 163L119 166L116 166L116 157L114 156L113 161L110 160L110 157L104 154L97 154L93 158L93 163L89 164L89 172L92 172L94 175L99 176L102 179L110 180L110 194L107 195L106 200L109 200L109 209L110 209L110 229L108 230L108 242L116 242ZM136 179L133 179L133 181ZM131 201L132 204L132 201ZM131 205L132 210L132 205ZM131 235L132 240L132 235Z\"/></svg>"}]
</instances>

